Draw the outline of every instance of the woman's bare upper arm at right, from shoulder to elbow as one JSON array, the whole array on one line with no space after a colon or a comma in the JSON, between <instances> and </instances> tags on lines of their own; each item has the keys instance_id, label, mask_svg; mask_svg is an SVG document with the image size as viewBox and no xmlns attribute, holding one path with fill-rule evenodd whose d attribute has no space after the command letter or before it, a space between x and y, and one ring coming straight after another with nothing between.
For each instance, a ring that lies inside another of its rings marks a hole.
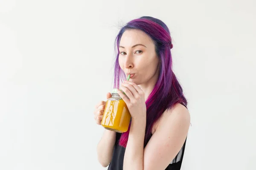
<instances>
[{"instance_id":1,"label":"woman's bare upper arm at right, from shoulder to elbow","mask_svg":"<svg viewBox=\"0 0 256 170\"><path fill-rule=\"evenodd\" d=\"M144 149L143 169L165 170L180 151L188 134L189 111L181 104L166 111Z\"/></svg>"}]
</instances>

